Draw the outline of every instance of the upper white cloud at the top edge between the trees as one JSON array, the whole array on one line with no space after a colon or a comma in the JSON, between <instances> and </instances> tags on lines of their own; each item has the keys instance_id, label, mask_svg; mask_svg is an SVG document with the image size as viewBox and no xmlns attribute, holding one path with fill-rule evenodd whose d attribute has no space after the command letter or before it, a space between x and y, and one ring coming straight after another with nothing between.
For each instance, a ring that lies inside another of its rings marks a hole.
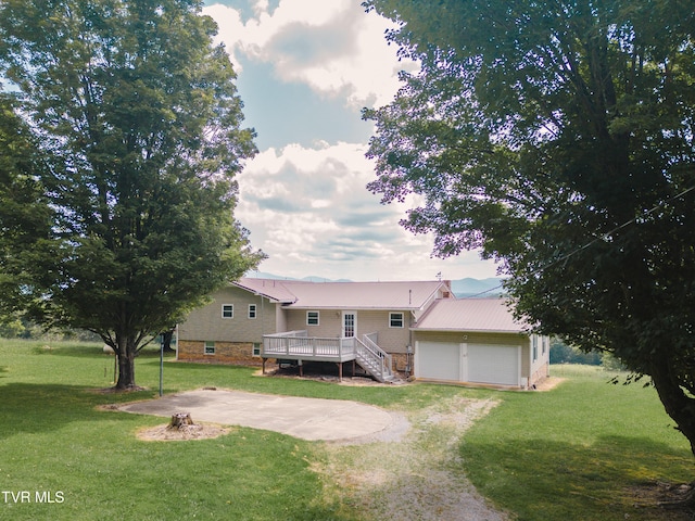
<instances>
[{"instance_id":1,"label":"upper white cloud at the top edge between the trees","mask_svg":"<svg viewBox=\"0 0 695 521\"><path fill-rule=\"evenodd\" d=\"M254 7L256 17L243 23L238 11L220 4L204 9L219 25L240 69L240 56L270 63L279 79L308 85L321 96L341 96L351 106L384 104L392 99L397 73L413 68L399 62L383 33L393 24L365 13L353 0L281 0L268 13L267 2Z\"/></svg>"}]
</instances>

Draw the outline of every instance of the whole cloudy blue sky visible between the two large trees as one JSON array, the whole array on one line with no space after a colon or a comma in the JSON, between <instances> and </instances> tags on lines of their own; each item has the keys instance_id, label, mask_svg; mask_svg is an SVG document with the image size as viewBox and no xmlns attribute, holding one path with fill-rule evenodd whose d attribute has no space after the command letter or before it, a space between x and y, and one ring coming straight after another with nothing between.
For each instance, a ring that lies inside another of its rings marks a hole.
<instances>
[{"instance_id":1,"label":"whole cloudy blue sky visible between the two large trees","mask_svg":"<svg viewBox=\"0 0 695 521\"><path fill-rule=\"evenodd\" d=\"M366 189L374 124L363 107L389 103L400 71L384 30L359 0L206 0L237 72L244 126L258 153L239 175L236 217L268 258L260 271L291 278L434 280L496 276L478 253L432 257L431 236L399 224L417 199L383 205Z\"/></svg>"}]
</instances>

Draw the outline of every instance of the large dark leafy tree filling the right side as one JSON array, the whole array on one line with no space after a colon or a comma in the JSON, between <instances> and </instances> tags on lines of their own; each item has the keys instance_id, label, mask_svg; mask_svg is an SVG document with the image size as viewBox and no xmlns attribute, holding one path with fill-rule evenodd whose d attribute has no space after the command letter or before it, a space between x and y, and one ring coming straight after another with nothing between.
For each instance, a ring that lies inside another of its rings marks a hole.
<instances>
[{"instance_id":1,"label":"large dark leafy tree filling the right side","mask_svg":"<svg viewBox=\"0 0 695 521\"><path fill-rule=\"evenodd\" d=\"M695 13L672 0L369 0L403 74L370 190L480 247L517 314L648 376L695 453Z\"/></svg>"}]
</instances>

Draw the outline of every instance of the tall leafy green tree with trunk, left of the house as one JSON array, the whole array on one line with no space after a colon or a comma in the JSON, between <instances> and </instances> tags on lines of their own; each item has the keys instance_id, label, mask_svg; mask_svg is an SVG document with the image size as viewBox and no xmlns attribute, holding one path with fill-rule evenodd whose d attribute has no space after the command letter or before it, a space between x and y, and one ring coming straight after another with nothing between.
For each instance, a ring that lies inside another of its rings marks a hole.
<instances>
[{"instance_id":1,"label":"tall leafy green tree with trunk, left of the house","mask_svg":"<svg viewBox=\"0 0 695 521\"><path fill-rule=\"evenodd\" d=\"M51 236L33 243L31 315L135 357L262 254L235 220L255 153L216 25L198 0L2 0L0 72L49 162Z\"/></svg>"}]
</instances>

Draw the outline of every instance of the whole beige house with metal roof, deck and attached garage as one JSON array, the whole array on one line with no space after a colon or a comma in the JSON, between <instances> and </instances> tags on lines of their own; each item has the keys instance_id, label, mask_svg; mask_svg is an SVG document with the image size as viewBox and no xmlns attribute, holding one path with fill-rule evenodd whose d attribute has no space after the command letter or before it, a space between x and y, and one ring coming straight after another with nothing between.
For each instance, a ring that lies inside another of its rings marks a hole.
<instances>
[{"instance_id":1,"label":"whole beige house with metal roof, deck and attached garage","mask_svg":"<svg viewBox=\"0 0 695 521\"><path fill-rule=\"evenodd\" d=\"M177 358L359 365L394 374L516 387L547 376L547 339L503 300L457 300L447 281L307 282L242 278L178 327ZM493 363L494 361L494 363Z\"/></svg>"}]
</instances>

